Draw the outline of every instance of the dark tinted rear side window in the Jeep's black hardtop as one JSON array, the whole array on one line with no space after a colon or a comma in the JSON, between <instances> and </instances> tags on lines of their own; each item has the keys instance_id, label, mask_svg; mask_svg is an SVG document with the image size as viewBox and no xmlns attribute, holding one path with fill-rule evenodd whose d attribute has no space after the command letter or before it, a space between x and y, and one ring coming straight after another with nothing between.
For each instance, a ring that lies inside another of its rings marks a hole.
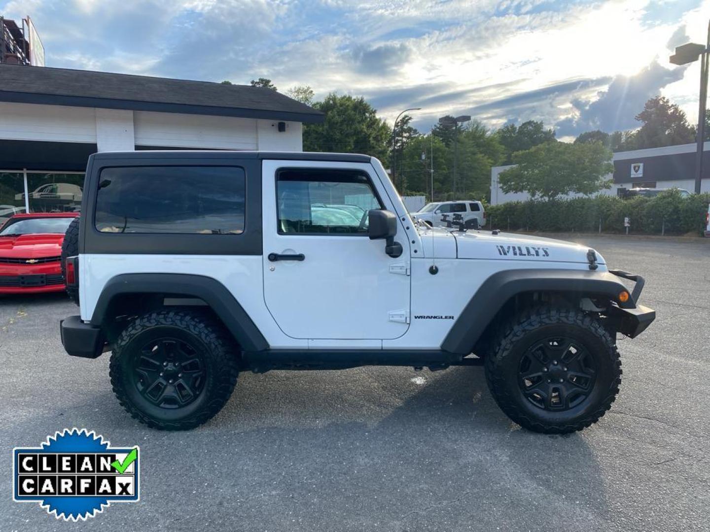
<instances>
[{"instance_id":1,"label":"dark tinted rear side window in the Jeep's black hardtop","mask_svg":"<svg viewBox=\"0 0 710 532\"><path fill-rule=\"evenodd\" d=\"M104 233L239 234L244 231L239 167L106 168L96 228Z\"/></svg>"}]
</instances>

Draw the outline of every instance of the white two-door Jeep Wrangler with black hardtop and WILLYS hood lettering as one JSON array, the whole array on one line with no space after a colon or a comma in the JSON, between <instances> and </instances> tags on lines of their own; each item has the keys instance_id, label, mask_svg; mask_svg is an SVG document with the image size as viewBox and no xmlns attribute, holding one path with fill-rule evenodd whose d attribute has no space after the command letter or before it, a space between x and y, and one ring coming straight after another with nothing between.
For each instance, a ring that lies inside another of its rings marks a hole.
<instances>
[{"instance_id":1,"label":"white two-door Jeep Wrangler with black hardtop and WILLYS hood lettering","mask_svg":"<svg viewBox=\"0 0 710 532\"><path fill-rule=\"evenodd\" d=\"M365 155L98 153L82 201L62 343L111 351L155 428L209 420L242 371L485 365L510 419L577 431L616 397L617 333L655 318L594 250L413 223Z\"/></svg>"}]
</instances>

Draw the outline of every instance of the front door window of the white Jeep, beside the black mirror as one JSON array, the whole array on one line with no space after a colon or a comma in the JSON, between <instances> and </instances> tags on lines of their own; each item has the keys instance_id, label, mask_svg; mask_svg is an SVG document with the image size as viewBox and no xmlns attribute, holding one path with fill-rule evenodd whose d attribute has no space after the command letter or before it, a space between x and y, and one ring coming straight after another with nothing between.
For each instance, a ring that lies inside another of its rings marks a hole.
<instances>
[{"instance_id":1,"label":"front door window of the white Jeep, beside the black mirror","mask_svg":"<svg viewBox=\"0 0 710 532\"><path fill-rule=\"evenodd\" d=\"M370 209L382 209L359 170L284 168L276 174L280 234L367 234Z\"/></svg>"}]
</instances>

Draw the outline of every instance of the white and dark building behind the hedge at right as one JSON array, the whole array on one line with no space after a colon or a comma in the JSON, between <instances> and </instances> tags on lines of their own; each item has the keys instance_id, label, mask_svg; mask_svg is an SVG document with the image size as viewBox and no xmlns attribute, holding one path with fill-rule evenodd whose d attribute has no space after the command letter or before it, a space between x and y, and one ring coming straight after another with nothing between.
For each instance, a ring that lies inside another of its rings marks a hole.
<instances>
[{"instance_id":1,"label":"white and dark building behind the hedge at right","mask_svg":"<svg viewBox=\"0 0 710 532\"><path fill-rule=\"evenodd\" d=\"M599 194L616 196L618 189L648 187L658 189L678 188L688 192L695 190L695 157L697 145L682 144L617 152L613 155L614 172L606 179L613 179L611 189L604 189ZM501 190L498 176L512 165L496 166L491 169L491 204L498 205L508 201L526 201L527 193L505 193ZM701 192L710 192L710 142L704 145L703 179ZM569 194L567 197L580 196Z\"/></svg>"}]
</instances>

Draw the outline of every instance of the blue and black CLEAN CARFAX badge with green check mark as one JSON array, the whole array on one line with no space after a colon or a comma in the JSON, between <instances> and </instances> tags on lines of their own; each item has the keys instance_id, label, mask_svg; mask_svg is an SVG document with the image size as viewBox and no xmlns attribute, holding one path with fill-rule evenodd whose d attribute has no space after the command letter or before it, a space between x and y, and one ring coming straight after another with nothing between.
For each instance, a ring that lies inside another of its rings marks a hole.
<instances>
[{"instance_id":1,"label":"blue and black CLEAN CARFAX badge with green check mark","mask_svg":"<svg viewBox=\"0 0 710 532\"><path fill-rule=\"evenodd\" d=\"M13 450L13 499L39 501L65 521L138 501L139 454L137 445L114 448L94 431L65 428L40 447Z\"/></svg>"}]
</instances>

